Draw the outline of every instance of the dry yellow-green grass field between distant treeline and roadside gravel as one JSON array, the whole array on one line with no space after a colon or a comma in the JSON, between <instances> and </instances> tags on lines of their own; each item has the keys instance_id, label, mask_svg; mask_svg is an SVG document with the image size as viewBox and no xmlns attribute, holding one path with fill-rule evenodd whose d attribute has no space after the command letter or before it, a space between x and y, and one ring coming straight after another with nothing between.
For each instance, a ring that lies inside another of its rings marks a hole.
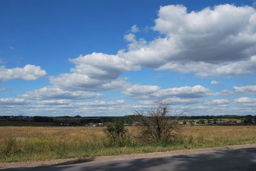
<instances>
[{"instance_id":1,"label":"dry yellow-green grass field between distant treeline and roadside gravel","mask_svg":"<svg viewBox=\"0 0 256 171\"><path fill-rule=\"evenodd\" d=\"M133 137L138 128L128 127L131 141L113 144L104 128L85 126L1 126L0 162L36 161L172 151L201 147L256 143L256 126L184 126L171 144L145 144Z\"/></svg>"}]
</instances>

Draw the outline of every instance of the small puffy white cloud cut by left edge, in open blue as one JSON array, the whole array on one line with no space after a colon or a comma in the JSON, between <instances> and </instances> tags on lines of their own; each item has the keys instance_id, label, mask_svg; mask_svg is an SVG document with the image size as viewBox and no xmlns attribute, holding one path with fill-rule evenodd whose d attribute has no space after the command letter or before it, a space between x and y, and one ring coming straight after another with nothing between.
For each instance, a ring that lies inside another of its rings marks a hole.
<instances>
[{"instance_id":1,"label":"small puffy white cloud cut by left edge, in open blue","mask_svg":"<svg viewBox=\"0 0 256 171\"><path fill-rule=\"evenodd\" d=\"M0 66L0 82L13 79L37 80L47 75L45 70L41 70L40 66L27 64L23 68L6 69Z\"/></svg>"}]
</instances>

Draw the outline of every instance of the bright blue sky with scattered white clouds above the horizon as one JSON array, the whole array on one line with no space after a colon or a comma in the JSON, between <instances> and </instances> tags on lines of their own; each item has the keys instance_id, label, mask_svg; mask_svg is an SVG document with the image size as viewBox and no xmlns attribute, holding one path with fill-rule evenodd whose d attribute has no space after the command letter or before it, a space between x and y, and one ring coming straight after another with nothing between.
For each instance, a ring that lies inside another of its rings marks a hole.
<instances>
[{"instance_id":1,"label":"bright blue sky with scattered white clouds above the horizon","mask_svg":"<svg viewBox=\"0 0 256 171\"><path fill-rule=\"evenodd\" d=\"M255 75L253 0L0 1L0 115L255 115Z\"/></svg>"}]
</instances>

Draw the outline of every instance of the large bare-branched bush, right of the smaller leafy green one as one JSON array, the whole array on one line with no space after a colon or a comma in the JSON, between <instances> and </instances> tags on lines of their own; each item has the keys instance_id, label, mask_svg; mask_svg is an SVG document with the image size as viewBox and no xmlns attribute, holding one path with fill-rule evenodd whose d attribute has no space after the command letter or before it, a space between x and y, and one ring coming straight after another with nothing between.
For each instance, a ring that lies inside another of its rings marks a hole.
<instances>
[{"instance_id":1,"label":"large bare-branched bush, right of the smaller leafy green one","mask_svg":"<svg viewBox=\"0 0 256 171\"><path fill-rule=\"evenodd\" d=\"M156 101L156 104L144 110L134 110L140 124L138 138L159 144L171 142L172 138L180 134L182 125L177 119L183 113L171 115L168 101Z\"/></svg>"}]
</instances>

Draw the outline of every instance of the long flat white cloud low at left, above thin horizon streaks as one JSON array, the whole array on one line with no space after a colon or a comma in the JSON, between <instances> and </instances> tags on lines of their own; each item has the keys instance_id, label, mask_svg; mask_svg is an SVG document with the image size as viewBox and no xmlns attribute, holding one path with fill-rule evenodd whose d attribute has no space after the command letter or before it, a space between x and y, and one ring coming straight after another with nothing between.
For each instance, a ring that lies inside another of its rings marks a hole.
<instances>
[{"instance_id":1,"label":"long flat white cloud low at left, above thin horizon streaks","mask_svg":"<svg viewBox=\"0 0 256 171\"><path fill-rule=\"evenodd\" d=\"M60 87L42 87L28 91L26 94L19 95L21 98L49 100L49 99L67 99L67 100L83 100L89 98L102 98L100 93L86 92L86 91L64 91Z\"/></svg>"}]
</instances>

